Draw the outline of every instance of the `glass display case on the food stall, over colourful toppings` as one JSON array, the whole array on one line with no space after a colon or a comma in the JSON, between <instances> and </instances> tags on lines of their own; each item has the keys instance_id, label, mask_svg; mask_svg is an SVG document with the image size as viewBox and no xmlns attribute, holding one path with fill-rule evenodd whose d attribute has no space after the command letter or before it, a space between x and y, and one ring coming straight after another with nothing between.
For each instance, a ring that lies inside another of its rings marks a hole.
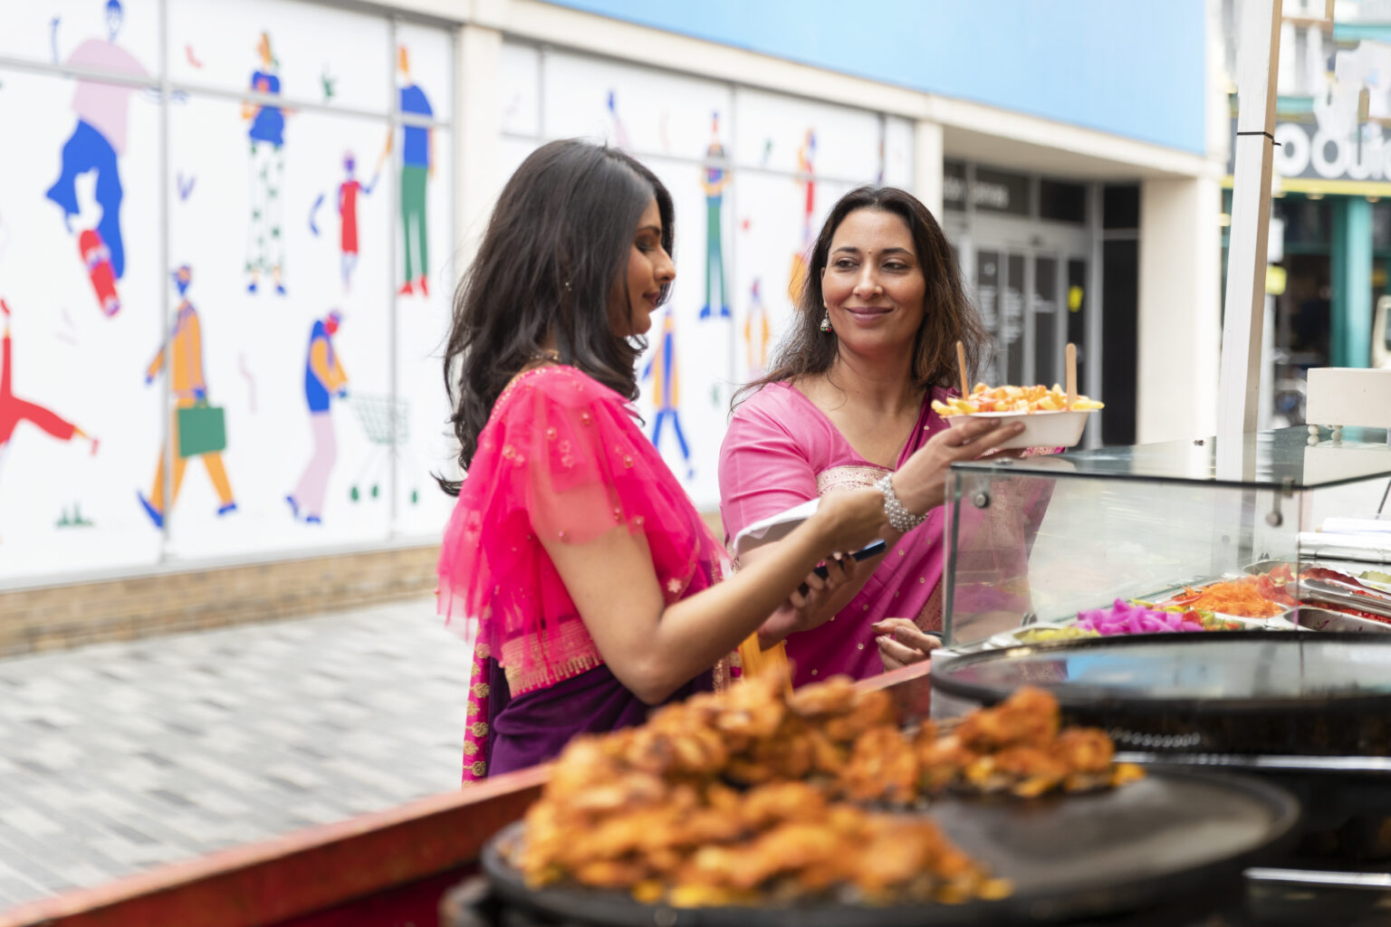
<instances>
[{"instance_id":1,"label":"glass display case on the food stall, over colourful toppings","mask_svg":"<svg viewBox=\"0 0 1391 927\"><path fill-rule=\"evenodd\" d=\"M1320 439L1285 428L1246 435L1241 450L1235 478L1219 477L1213 438L953 466L946 643L1072 635L1079 612L1117 599L1182 612L1205 589L1213 592L1199 599L1207 603L1225 602L1228 588L1245 595L1244 577L1260 581L1278 607L1256 616L1205 607L1205 620L1217 616L1209 627L1308 628L1316 603L1306 593L1324 575L1308 573L1310 566L1373 593L1355 600L1365 609L1320 595L1317 614L1333 616L1321 620L1362 613L1353 623L1365 627L1355 630L1391 632L1376 621L1380 612L1391 614L1391 595L1377 598L1391 593L1383 573L1391 571L1391 510L1381 520L1391 489L1388 432L1346 428ZM1334 592L1351 593L1345 585Z\"/></svg>"}]
</instances>

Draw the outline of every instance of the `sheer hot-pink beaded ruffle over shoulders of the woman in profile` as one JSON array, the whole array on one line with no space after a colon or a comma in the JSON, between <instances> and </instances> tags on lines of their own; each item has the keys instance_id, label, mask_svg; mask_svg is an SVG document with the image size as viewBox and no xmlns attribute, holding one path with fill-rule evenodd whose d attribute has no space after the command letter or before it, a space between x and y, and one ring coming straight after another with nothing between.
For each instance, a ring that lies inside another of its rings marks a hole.
<instances>
[{"instance_id":1,"label":"sheer hot-pink beaded ruffle over shoulders of the woman in profile","mask_svg":"<svg viewBox=\"0 0 1391 927\"><path fill-rule=\"evenodd\" d=\"M445 531L441 612L451 625L477 620L479 639L504 664L504 645L523 638L542 642L547 663L565 662L593 643L573 627L577 610L541 538L643 532L675 598L698 573L697 585L708 585L721 550L618 393L566 367L513 389L480 436Z\"/></svg>"}]
</instances>

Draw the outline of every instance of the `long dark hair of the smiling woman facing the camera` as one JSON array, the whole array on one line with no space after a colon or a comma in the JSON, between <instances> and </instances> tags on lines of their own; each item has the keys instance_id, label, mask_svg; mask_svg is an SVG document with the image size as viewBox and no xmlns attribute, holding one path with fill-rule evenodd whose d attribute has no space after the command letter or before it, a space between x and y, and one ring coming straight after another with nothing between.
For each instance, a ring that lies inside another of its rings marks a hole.
<instances>
[{"instance_id":1,"label":"long dark hair of the smiling woman facing the camera","mask_svg":"<svg viewBox=\"0 0 1391 927\"><path fill-rule=\"evenodd\" d=\"M947 243L942 227L915 196L896 186L857 186L836 203L821 227L811 252L807 279L797 299L797 313L791 329L782 338L773 354L772 371L734 393L737 406L750 393L776 382L823 374L830 370L839 352L835 332L821 331L826 311L821 293L821 271L826 268L830 239L847 215L855 210L883 210L900 217L912 233L918 264L926 278L922 296L922 325L912 346L912 382L919 389L949 386L958 382L956 343L965 346L968 378L975 374L990 343L990 334L971 304L961 284L961 268Z\"/></svg>"}]
</instances>

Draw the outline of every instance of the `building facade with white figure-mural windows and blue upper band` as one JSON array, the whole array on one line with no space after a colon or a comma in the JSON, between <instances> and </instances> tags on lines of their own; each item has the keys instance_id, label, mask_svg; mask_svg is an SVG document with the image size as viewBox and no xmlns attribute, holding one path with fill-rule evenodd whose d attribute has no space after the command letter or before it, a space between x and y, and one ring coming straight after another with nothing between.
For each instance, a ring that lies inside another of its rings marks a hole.
<instances>
[{"instance_id":1,"label":"building facade with white figure-mural windows and blue upper band","mask_svg":"<svg viewBox=\"0 0 1391 927\"><path fill-rule=\"evenodd\" d=\"M0 402L65 424L0 435L0 591L428 550L449 511L434 475L456 473L451 290L502 182L555 138L625 147L673 193L679 281L640 407L705 510L733 392L858 183L942 220L997 338L988 379L1057 379L1072 341L1107 402L1089 442L1209 434L1219 17L1203 0L893 0L854 22L825 0L6 6L0 117L24 131L0 172Z\"/></svg>"}]
</instances>

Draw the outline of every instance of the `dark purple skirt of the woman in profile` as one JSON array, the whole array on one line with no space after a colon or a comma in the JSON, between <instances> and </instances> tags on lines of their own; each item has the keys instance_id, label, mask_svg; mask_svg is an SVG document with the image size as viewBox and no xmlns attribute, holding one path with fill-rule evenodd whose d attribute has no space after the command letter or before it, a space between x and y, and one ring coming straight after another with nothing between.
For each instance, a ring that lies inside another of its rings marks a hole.
<instances>
[{"instance_id":1,"label":"dark purple skirt of the woman in profile","mask_svg":"<svg viewBox=\"0 0 1391 927\"><path fill-rule=\"evenodd\" d=\"M709 670L664 702L680 702L715 688ZM497 660L488 660L488 776L545 763L576 734L604 734L647 720L654 706L644 703L615 678L606 666L517 698Z\"/></svg>"}]
</instances>

